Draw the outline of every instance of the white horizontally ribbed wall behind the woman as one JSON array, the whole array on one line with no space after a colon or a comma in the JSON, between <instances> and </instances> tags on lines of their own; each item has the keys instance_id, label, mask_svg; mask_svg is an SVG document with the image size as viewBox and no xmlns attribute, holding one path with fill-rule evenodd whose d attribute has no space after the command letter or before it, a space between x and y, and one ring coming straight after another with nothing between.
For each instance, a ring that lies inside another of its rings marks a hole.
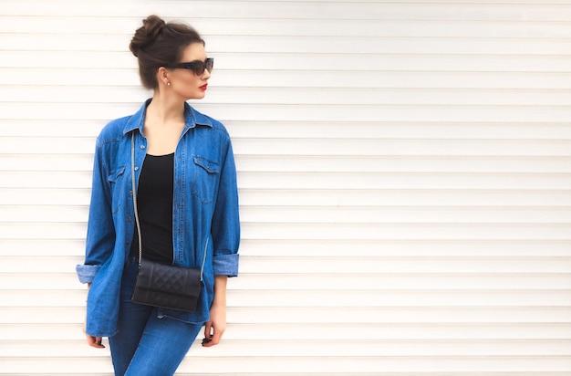
<instances>
[{"instance_id":1,"label":"white horizontally ribbed wall behind the woman","mask_svg":"<svg viewBox=\"0 0 571 376\"><path fill-rule=\"evenodd\" d=\"M571 1L0 1L0 374L84 344L93 143L151 13L196 26L244 241L181 375L571 374Z\"/></svg>"}]
</instances>

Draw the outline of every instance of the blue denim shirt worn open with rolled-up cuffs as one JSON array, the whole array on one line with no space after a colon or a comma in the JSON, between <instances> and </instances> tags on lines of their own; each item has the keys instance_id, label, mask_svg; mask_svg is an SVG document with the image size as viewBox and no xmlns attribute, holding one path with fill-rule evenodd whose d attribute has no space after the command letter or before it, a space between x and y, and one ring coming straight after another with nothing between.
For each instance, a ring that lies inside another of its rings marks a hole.
<instances>
[{"instance_id":1,"label":"blue denim shirt worn open with rolled-up cuffs","mask_svg":"<svg viewBox=\"0 0 571 376\"><path fill-rule=\"evenodd\" d=\"M135 226L131 189L130 136L135 132L135 178L146 155L145 111L112 120L96 143L84 265L79 280L91 283L88 334L117 331L119 288ZM195 312L160 309L185 322L209 319L214 276L238 275L240 223L236 170L230 136L222 123L185 105L186 123L174 153L172 210L173 265L198 267L206 252L203 283Z\"/></svg>"}]
</instances>

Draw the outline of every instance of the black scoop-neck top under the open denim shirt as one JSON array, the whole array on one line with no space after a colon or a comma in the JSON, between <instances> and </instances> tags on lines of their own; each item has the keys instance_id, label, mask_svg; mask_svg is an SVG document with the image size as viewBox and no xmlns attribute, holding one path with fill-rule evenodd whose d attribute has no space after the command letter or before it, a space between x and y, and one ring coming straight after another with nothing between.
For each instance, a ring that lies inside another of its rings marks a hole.
<instances>
[{"instance_id":1,"label":"black scoop-neck top under the open denim shirt","mask_svg":"<svg viewBox=\"0 0 571 376\"><path fill-rule=\"evenodd\" d=\"M137 189L142 256L161 264L172 264L172 189L174 153L147 154ZM139 256L137 227L133 232L130 256Z\"/></svg>"}]
</instances>

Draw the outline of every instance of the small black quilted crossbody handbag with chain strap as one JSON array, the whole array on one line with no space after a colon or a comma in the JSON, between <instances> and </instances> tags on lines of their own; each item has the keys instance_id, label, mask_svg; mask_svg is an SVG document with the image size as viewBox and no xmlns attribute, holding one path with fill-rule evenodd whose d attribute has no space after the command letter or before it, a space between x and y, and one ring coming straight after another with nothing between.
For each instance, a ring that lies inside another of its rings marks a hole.
<instances>
[{"instance_id":1,"label":"small black quilted crossbody handbag with chain strap","mask_svg":"<svg viewBox=\"0 0 571 376\"><path fill-rule=\"evenodd\" d=\"M163 265L142 258L137 191L135 189L135 135L131 135L131 176L135 223L139 236L139 274L131 301L153 307L178 309L187 312L196 310L202 286L202 268Z\"/></svg>"}]
</instances>

